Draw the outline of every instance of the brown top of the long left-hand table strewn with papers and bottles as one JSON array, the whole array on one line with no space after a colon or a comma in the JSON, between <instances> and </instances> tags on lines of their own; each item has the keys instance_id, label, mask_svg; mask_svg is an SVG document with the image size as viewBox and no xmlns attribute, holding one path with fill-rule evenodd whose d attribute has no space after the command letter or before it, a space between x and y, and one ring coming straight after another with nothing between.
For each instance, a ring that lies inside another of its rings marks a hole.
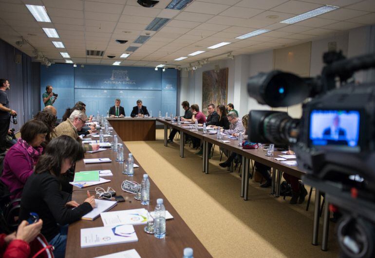
<instances>
[{"instance_id":1,"label":"brown top of the long left-hand table strewn with papers and bottles","mask_svg":"<svg viewBox=\"0 0 375 258\"><path fill-rule=\"evenodd\" d=\"M112 125L112 121L110 121ZM115 134L116 131L112 133ZM112 138L112 137L111 137ZM119 143L121 138L119 138ZM166 209L174 217L172 220L168 220L166 223L167 235L164 240L156 239L153 235L144 232L145 225L134 226L135 232L138 237L137 242L125 243L125 244L114 244L100 247L90 247L81 248L80 247L80 229L90 228L90 227L100 227L103 226L102 220L97 218L94 221L84 221L80 220L69 225L68 240L66 246L66 258L81 257L81 258L92 258L107 254L112 254L120 251L125 251L129 249L135 249L142 258L148 257L182 257L183 250L185 247L191 247L194 250L194 257L211 257L203 244L194 235L191 229L187 226L185 221L180 217L177 211L169 203L168 199L160 191L157 185L150 178L150 205L142 205L140 201L134 200L134 195L124 192L121 189L121 183L124 180L132 180L141 183L143 174L146 171L140 166L134 157L134 163L139 165L139 168L134 168L134 176L129 177L122 174L122 164L115 162L116 153L110 149L89 154L85 154L85 158L111 158L111 163L100 163L100 164L88 164L85 165L83 161L76 164L76 171L84 170L103 170L111 169L113 176L105 177L110 179L111 182L106 184L94 185L91 187L86 187L79 189L74 187L72 200L82 203L86 198L86 191L94 191L96 186L102 188L107 188L111 186L117 195L122 195L126 201L124 203L118 203L111 211L125 210L125 209L136 209L136 208L146 208L147 210L153 210L156 205L156 199L163 198L164 205ZM124 145L125 157L129 154L129 149ZM83 191L82 191L83 190ZM92 193L94 194L94 193Z\"/></svg>"}]
</instances>

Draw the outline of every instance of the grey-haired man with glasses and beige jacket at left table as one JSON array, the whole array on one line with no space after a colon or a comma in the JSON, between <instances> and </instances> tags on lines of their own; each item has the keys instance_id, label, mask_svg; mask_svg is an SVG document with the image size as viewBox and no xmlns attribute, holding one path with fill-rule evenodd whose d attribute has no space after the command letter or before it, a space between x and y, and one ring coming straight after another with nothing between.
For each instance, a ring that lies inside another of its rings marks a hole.
<instances>
[{"instance_id":1,"label":"grey-haired man with glasses and beige jacket at left table","mask_svg":"<svg viewBox=\"0 0 375 258\"><path fill-rule=\"evenodd\" d=\"M79 138L77 131L82 129L87 119L85 112L80 110L73 111L67 120L56 127L56 135L54 135L54 137L68 135L80 142L81 139ZM84 146L86 151L99 149L99 145L97 144L85 144Z\"/></svg>"}]
</instances>

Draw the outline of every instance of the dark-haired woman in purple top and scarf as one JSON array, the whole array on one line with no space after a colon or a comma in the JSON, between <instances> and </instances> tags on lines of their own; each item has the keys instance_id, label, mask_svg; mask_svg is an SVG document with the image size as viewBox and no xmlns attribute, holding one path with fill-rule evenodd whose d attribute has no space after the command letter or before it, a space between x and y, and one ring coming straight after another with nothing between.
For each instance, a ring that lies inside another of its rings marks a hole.
<instances>
[{"instance_id":1,"label":"dark-haired woman in purple top and scarf","mask_svg":"<svg viewBox=\"0 0 375 258\"><path fill-rule=\"evenodd\" d=\"M30 120L21 127L21 137L5 155L1 181L9 191L18 191L11 199L21 196L23 185L33 173L39 156L43 152L41 144L49 132L47 126L38 120Z\"/></svg>"}]
</instances>

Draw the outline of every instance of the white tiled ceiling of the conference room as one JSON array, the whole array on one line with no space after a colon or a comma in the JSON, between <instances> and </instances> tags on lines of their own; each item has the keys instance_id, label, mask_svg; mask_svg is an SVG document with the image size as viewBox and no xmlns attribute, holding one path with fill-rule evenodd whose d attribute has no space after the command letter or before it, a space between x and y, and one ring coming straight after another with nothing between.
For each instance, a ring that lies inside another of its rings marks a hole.
<instances>
[{"instance_id":1,"label":"white tiled ceiling of the conference room","mask_svg":"<svg viewBox=\"0 0 375 258\"><path fill-rule=\"evenodd\" d=\"M375 23L375 0L193 0L183 10L166 9L170 1L160 0L154 7L145 8L136 0L0 0L0 38L30 56L35 55L34 48L40 50L55 62L65 62L59 53L68 52L71 58L66 59L77 64L121 61L125 66L187 67L206 58L281 48ZM37 22L25 4L44 5L52 22ZM280 23L325 4L340 8L292 25ZM156 32L146 31L156 17L170 20ZM43 27L56 28L60 38L47 37ZM259 29L270 31L236 38ZM133 43L147 34L151 37L145 43ZM16 41L22 37L32 46L17 46ZM128 42L119 44L116 39ZM52 41L62 41L65 49L56 48ZM220 42L230 44L207 49ZM131 46L138 48L126 59L120 58ZM86 50L104 51L104 55L87 56ZM188 55L196 51L206 52ZM182 56L188 58L174 60Z\"/></svg>"}]
</instances>

